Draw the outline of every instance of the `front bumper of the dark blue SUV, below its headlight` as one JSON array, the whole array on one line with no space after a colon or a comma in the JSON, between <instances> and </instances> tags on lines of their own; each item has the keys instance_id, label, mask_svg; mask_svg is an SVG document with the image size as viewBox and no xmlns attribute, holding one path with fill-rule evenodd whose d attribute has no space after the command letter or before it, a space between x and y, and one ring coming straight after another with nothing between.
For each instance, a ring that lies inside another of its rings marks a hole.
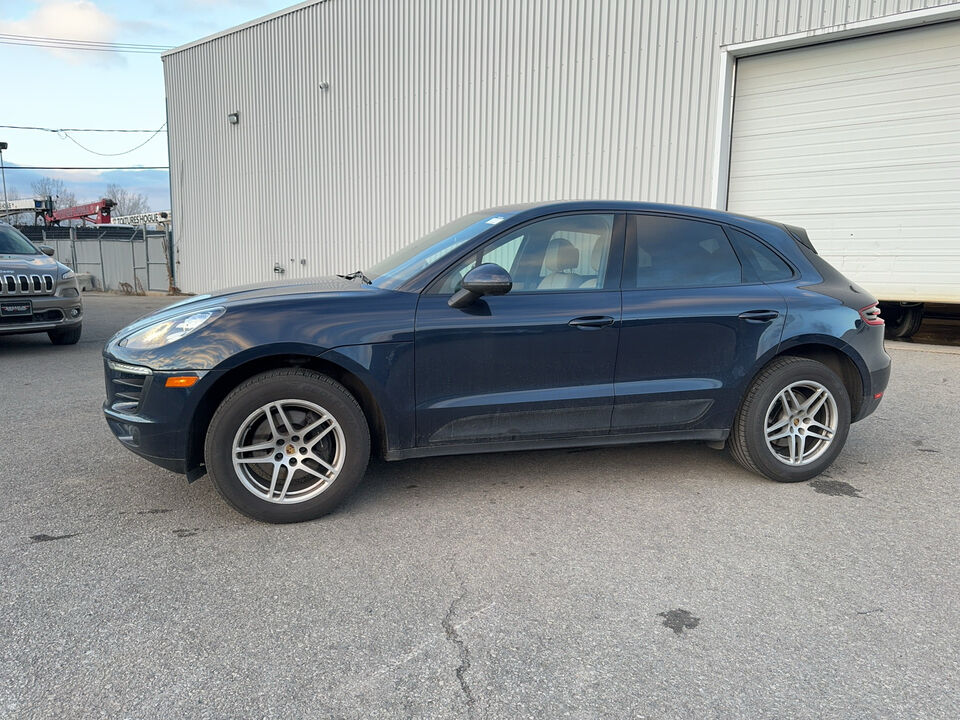
<instances>
[{"instance_id":1,"label":"front bumper of the dark blue SUV, below its headlight","mask_svg":"<svg viewBox=\"0 0 960 720\"><path fill-rule=\"evenodd\" d=\"M189 388L168 388L172 376L200 378ZM211 379L204 371L155 372L104 358L103 414L128 450L177 473L186 473L190 426L199 398Z\"/></svg>"}]
</instances>

